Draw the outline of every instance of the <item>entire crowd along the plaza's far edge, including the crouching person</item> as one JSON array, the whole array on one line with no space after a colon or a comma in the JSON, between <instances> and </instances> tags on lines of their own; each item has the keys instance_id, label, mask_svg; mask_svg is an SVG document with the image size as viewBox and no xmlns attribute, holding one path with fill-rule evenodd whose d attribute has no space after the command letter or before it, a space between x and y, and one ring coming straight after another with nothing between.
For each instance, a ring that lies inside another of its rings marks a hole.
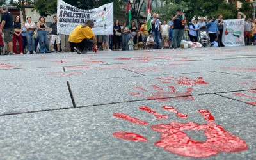
<instances>
[{"instance_id":1,"label":"entire crowd along the plaza's far edge, including the crouching person","mask_svg":"<svg viewBox=\"0 0 256 160\"><path fill-rule=\"evenodd\" d=\"M4 55L19 54L35 54L36 47L39 45L39 53L60 52L60 35L57 31L57 17L54 15L54 21L49 25L49 35L46 30L48 26L44 17L40 17L38 22L31 22L31 17L27 17L28 21L24 24L20 22L17 15L12 18L12 13L8 12L8 7L2 5L0 8L2 22L0 25L0 47L6 43L6 52ZM225 18L228 19L228 18ZM241 19L241 15L237 15L237 19ZM224 47L222 43L223 35L223 17L219 14L216 19L210 17L206 22L202 17L198 22L192 19L187 24L187 18L182 10L177 9L176 14L166 23L166 20L158 19L156 13L152 14L150 29L147 29L147 20L141 25L140 29L136 26L136 22L131 22L131 27L127 27L127 23L120 24L119 20L115 20L113 26L113 35L102 35L102 48L104 51L125 51L133 49L176 49L181 48L182 40L198 42L198 29L207 28L209 31L209 41L212 47ZM70 52L76 51L84 54L89 47L97 52L97 38L92 28L94 22L86 20L84 25L77 26L70 33L68 41L70 44ZM49 36L49 37L48 37ZM4 39L4 42L3 42ZM256 45L256 19L247 18L244 22L244 42L246 45ZM51 48L49 48L49 43ZM56 44L56 47L54 47ZM17 45L19 49L17 49ZM0 50L2 51L2 49ZM27 51L25 50L27 49Z\"/></svg>"}]
</instances>

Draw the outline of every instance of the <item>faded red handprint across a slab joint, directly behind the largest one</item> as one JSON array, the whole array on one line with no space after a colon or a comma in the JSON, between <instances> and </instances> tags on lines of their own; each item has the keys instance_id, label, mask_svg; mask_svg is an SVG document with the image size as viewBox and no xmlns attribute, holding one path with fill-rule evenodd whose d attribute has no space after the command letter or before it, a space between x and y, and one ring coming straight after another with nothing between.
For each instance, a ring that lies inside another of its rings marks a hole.
<instances>
[{"instance_id":1,"label":"faded red handprint across a slab joint, directly behind the largest one","mask_svg":"<svg viewBox=\"0 0 256 160\"><path fill-rule=\"evenodd\" d=\"M129 93L130 95L135 95L135 96L144 96L146 99L151 99L151 100L158 100L158 101L171 101L171 100L188 100L192 101L194 100L193 96L191 95L191 91L193 88L187 88L186 92L176 92L176 89L174 86L167 86L170 88L170 91L165 91L163 88L160 88L157 85L152 85L152 88L155 88L157 91L151 92L151 96L147 95L142 95L141 93L138 92L131 92ZM141 87L134 87L135 89L142 90L143 92L148 92L145 88ZM168 99L170 97L173 97L173 99Z\"/></svg>"}]
</instances>

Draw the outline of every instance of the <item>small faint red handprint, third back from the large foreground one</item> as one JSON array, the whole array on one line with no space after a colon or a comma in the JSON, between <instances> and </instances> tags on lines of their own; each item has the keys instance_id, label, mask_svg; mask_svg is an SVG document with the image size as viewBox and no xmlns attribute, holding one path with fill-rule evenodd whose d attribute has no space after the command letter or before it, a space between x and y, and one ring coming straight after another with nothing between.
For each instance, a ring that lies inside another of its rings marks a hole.
<instances>
[{"instance_id":1,"label":"small faint red handprint, third back from the large foreground one","mask_svg":"<svg viewBox=\"0 0 256 160\"><path fill-rule=\"evenodd\" d=\"M203 80L202 77L197 77L197 79L190 79L188 77L180 76L178 78L175 77L167 77L167 78L157 78L161 80L161 83L177 83L180 85L206 85L209 84Z\"/></svg>"}]
</instances>

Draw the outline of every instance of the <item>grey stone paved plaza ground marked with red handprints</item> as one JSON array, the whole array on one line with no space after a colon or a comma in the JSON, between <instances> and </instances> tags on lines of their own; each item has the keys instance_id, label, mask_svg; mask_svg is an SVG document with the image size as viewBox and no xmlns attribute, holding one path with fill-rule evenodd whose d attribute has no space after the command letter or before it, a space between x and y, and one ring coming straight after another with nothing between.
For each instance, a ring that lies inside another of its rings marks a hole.
<instances>
[{"instance_id":1,"label":"grey stone paved plaza ground marked with red handprints","mask_svg":"<svg viewBox=\"0 0 256 160\"><path fill-rule=\"evenodd\" d=\"M256 157L255 46L0 63L0 159Z\"/></svg>"}]
</instances>

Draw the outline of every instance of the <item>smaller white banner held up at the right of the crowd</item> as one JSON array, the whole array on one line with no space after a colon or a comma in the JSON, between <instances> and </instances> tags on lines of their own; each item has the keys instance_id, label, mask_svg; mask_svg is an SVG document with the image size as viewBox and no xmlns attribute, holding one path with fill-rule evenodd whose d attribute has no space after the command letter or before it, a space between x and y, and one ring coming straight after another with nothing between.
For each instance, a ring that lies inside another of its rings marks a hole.
<instances>
[{"instance_id":1,"label":"smaller white banner held up at the right of the crowd","mask_svg":"<svg viewBox=\"0 0 256 160\"><path fill-rule=\"evenodd\" d=\"M244 45L244 19L223 20L222 43L225 47Z\"/></svg>"}]
</instances>

